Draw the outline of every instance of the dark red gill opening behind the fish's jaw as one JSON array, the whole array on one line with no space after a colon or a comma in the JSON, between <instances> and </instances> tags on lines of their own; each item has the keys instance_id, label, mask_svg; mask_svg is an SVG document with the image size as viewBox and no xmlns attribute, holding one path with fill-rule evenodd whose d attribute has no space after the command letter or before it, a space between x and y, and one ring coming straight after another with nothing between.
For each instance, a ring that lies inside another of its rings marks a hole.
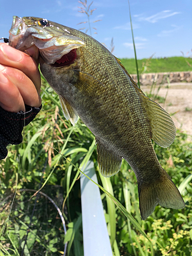
<instances>
[{"instance_id":1,"label":"dark red gill opening behind the fish's jaw","mask_svg":"<svg viewBox=\"0 0 192 256\"><path fill-rule=\"evenodd\" d=\"M77 57L77 49L73 49L70 52L68 52L67 54L62 55L62 57L58 60L55 61L54 64L52 64L52 67L55 68L62 68L65 66L70 66L71 64L74 63L76 57Z\"/></svg>"}]
</instances>

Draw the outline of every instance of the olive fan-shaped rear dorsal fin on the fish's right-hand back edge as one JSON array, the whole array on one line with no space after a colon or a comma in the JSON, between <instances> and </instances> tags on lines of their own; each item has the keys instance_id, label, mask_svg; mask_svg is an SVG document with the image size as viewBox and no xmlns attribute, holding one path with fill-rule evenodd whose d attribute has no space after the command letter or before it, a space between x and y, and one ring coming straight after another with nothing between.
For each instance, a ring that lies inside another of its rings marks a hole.
<instances>
[{"instance_id":1,"label":"olive fan-shaped rear dorsal fin on the fish's right-hand back edge","mask_svg":"<svg viewBox=\"0 0 192 256\"><path fill-rule=\"evenodd\" d=\"M167 147L174 142L176 127L169 114L159 104L145 95L139 94L147 116L150 120L152 139L161 147Z\"/></svg>"}]
</instances>

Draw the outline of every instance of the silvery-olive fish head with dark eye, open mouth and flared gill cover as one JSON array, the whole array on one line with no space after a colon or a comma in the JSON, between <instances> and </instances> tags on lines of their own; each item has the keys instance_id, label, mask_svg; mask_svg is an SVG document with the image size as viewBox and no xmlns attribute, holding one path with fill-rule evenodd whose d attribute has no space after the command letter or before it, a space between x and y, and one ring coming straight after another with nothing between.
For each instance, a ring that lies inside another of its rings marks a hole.
<instances>
[{"instance_id":1,"label":"silvery-olive fish head with dark eye, open mouth and flared gill cover","mask_svg":"<svg viewBox=\"0 0 192 256\"><path fill-rule=\"evenodd\" d=\"M56 67L71 65L76 58L76 49L86 46L83 39L71 33L70 28L45 18L13 16L9 34L10 46L20 51L33 46L43 61Z\"/></svg>"}]
</instances>

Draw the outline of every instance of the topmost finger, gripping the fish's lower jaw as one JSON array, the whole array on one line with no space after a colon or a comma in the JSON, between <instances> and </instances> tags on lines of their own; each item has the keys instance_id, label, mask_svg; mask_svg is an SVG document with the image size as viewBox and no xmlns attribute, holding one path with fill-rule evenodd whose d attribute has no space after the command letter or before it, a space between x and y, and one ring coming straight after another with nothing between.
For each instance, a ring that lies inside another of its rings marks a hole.
<instances>
[{"instance_id":1,"label":"topmost finger, gripping the fish's lower jaw","mask_svg":"<svg viewBox=\"0 0 192 256\"><path fill-rule=\"evenodd\" d=\"M40 94L40 73L37 63L32 57L6 44L0 44L0 63L24 72Z\"/></svg>"}]
</instances>

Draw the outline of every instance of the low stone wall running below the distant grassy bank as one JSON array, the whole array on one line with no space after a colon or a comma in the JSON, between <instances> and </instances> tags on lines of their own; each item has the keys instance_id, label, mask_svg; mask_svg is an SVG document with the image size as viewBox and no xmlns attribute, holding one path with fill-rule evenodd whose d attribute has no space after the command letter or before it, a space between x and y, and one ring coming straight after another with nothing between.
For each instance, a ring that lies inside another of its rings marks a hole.
<instances>
[{"instance_id":1,"label":"low stone wall running below the distant grassy bank","mask_svg":"<svg viewBox=\"0 0 192 256\"><path fill-rule=\"evenodd\" d=\"M132 79L137 83L137 75L131 75ZM164 73L145 73L140 75L139 81L143 86L169 82L192 82L192 72L164 72Z\"/></svg>"}]
</instances>

